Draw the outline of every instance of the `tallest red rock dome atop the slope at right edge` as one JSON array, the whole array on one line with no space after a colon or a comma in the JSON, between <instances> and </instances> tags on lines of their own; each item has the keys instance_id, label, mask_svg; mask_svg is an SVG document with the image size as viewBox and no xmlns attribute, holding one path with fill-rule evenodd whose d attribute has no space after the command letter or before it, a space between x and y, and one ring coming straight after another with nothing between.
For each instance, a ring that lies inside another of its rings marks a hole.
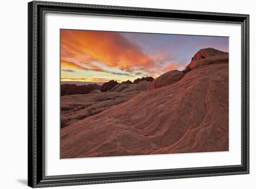
<instances>
[{"instance_id":1,"label":"tallest red rock dome atop the slope at right edge","mask_svg":"<svg viewBox=\"0 0 256 189\"><path fill-rule=\"evenodd\" d=\"M214 48L201 49L196 52L184 73L193 70L195 67L210 64L229 63L229 53L216 50Z\"/></svg>"}]
</instances>

